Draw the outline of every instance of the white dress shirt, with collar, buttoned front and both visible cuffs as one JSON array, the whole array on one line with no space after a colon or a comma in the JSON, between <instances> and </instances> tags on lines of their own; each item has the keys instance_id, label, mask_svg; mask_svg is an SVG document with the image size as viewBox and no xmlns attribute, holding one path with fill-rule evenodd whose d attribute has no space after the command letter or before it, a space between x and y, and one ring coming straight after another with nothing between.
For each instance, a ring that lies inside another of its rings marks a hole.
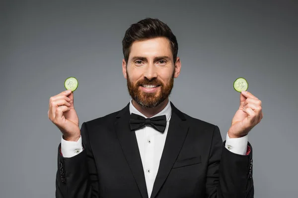
<instances>
[{"instance_id":1,"label":"white dress shirt, with collar, buttoned front and both visible cuffs","mask_svg":"<svg viewBox=\"0 0 298 198\"><path fill-rule=\"evenodd\" d=\"M132 100L129 105L130 113L135 113L141 115L145 118L140 111L138 111L134 105L132 104ZM146 186L148 191L148 196L151 196L151 192L153 189L153 184L155 181L155 177L157 175L159 161L161 158L161 154L163 151L169 121L171 119L172 108L170 101L168 101L167 105L162 109L159 113L152 116L165 115L166 116L166 128L164 133L160 133L150 126L145 126L142 129L136 130L137 142L140 150L140 155L143 164L143 170L145 174ZM230 150L233 153L245 155L247 151L247 135L242 138L229 138L226 133L226 142L225 148ZM64 157L72 157L78 153L80 153L82 148L81 137L77 142L66 141L61 138L61 152Z\"/></svg>"}]
</instances>

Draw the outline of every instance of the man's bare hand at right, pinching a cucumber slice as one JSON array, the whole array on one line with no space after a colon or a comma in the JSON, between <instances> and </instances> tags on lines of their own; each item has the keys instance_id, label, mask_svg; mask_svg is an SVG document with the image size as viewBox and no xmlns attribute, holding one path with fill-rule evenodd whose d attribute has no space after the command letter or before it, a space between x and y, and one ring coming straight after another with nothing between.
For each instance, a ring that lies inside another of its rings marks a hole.
<instances>
[{"instance_id":1,"label":"man's bare hand at right, pinching a cucumber slice","mask_svg":"<svg viewBox=\"0 0 298 198\"><path fill-rule=\"evenodd\" d=\"M231 127L227 132L228 137L241 138L246 136L262 118L262 101L249 92L241 92L240 106L232 119Z\"/></svg>"}]
</instances>

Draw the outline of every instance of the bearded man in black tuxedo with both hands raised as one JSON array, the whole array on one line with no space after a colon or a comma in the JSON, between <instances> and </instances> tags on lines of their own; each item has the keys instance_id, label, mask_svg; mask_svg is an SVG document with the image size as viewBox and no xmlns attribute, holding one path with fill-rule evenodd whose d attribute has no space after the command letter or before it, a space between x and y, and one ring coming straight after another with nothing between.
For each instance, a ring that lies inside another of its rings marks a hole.
<instances>
[{"instance_id":1,"label":"bearded man in black tuxedo with both hands raised","mask_svg":"<svg viewBox=\"0 0 298 198\"><path fill-rule=\"evenodd\" d=\"M63 133L56 198L253 198L247 134L263 117L261 100L240 94L223 143L218 126L169 101L181 62L166 24L141 20L122 44L132 97L122 110L79 129L73 93L50 98L49 119Z\"/></svg>"}]
</instances>

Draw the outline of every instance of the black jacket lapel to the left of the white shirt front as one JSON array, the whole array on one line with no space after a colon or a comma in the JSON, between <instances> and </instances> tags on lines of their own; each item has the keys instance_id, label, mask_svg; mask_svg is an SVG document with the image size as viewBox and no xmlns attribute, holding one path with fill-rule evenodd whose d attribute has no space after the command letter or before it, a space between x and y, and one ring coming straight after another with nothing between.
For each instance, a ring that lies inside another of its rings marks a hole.
<instances>
[{"instance_id":1,"label":"black jacket lapel to the left of the white shirt front","mask_svg":"<svg viewBox=\"0 0 298 198\"><path fill-rule=\"evenodd\" d=\"M128 104L116 116L115 130L127 163L136 180L142 197L148 198L146 180L136 133L130 130L129 119L130 112Z\"/></svg>"}]
</instances>

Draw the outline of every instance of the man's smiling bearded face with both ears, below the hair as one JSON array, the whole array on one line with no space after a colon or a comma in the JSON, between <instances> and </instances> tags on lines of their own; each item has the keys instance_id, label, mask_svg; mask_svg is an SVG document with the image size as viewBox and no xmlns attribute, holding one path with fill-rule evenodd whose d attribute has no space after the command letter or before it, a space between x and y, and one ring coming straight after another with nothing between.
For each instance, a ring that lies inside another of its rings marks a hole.
<instances>
[{"instance_id":1,"label":"man's smiling bearded face with both ears, below the hair","mask_svg":"<svg viewBox=\"0 0 298 198\"><path fill-rule=\"evenodd\" d=\"M177 57L174 64L169 41L159 37L134 42L127 65L122 61L122 70L132 99L152 108L170 95L180 73L180 60Z\"/></svg>"}]
</instances>

